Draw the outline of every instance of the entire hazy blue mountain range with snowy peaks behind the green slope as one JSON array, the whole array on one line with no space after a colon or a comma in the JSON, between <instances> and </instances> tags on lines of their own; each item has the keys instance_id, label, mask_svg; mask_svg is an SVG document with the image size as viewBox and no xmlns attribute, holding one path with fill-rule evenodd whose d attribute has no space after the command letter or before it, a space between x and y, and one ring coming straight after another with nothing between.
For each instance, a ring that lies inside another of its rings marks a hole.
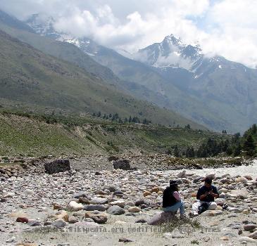
<instances>
[{"instance_id":1,"label":"entire hazy blue mountain range with snowy peaks behind the green slope","mask_svg":"<svg viewBox=\"0 0 257 246\"><path fill-rule=\"evenodd\" d=\"M221 56L208 57L199 44L183 44L171 34L161 43L130 54L56 32L53 18L42 21L32 15L26 23L15 26L17 20L10 22L2 20L0 28L44 53L84 67L125 93L175 110L209 129L244 131L257 122L257 70ZM41 41L35 34L42 36ZM54 40L63 42L61 49ZM87 56L87 63L73 45Z\"/></svg>"}]
</instances>

